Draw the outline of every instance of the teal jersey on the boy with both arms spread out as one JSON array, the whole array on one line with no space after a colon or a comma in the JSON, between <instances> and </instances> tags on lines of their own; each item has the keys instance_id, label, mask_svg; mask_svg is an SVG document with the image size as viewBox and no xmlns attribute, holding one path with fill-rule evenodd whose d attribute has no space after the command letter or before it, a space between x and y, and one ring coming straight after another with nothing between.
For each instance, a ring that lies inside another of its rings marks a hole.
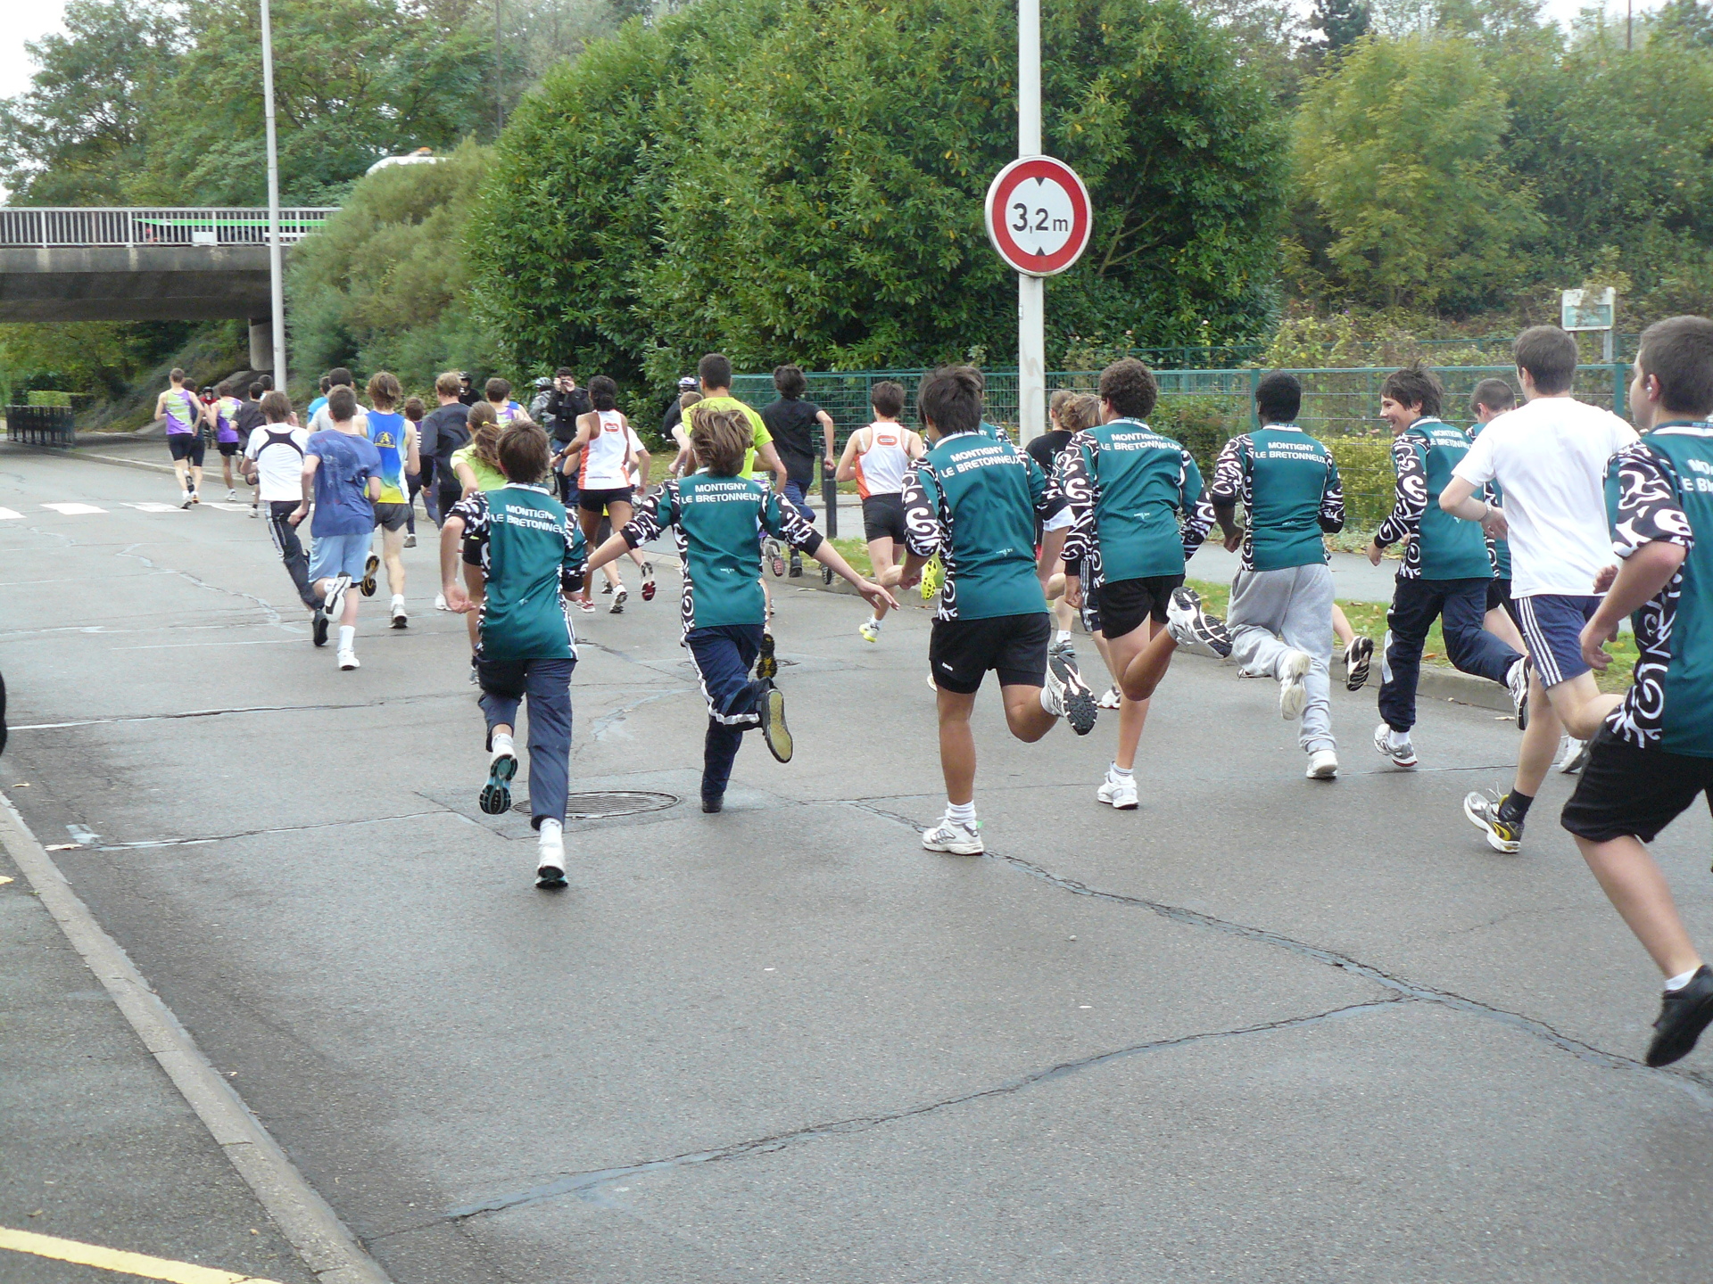
<instances>
[{"instance_id":1,"label":"teal jersey on the boy with both arms spread out","mask_svg":"<svg viewBox=\"0 0 1713 1284\"><path fill-rule=\"evenodd\" d=\"M793 507L750 478L692 473L668 481L625 524L630 548L671 529L683 562L683 630L767 621L761 591L761 536L785 539L810 556L821 532Z\"/></svg>"}]
</instances>

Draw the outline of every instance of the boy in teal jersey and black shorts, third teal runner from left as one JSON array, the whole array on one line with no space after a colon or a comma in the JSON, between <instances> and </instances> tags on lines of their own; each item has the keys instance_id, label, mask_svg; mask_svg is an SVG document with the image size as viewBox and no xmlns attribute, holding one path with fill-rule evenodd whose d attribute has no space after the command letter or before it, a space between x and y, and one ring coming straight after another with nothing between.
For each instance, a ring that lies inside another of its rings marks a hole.
<instances>
[{"instance_id":1,"label":"boy in teal jersey and black shorts, third teal runner from left","mask_svg":"<svg viewBox=\"0 0 1713 1284\"><path fill-rule=\"evenodd\" d=\"M1011 734L1033 743L1067 717L1095 728L1095 697L1076 664L1048 656L1052 616L1042 589L1064 548L1071 508L1042 469L1009 442L982 433L982 377L971 366L935 370L916 389L916 413L934 443L904 476L903 587L935 553L946 565L928 642L940 722L946 815L922 835L928 851L975 856L975 736L970 714L988 669L999 675ZM1042 519L1040 560L1030 558Z\"/></svg>"}]
</instances>

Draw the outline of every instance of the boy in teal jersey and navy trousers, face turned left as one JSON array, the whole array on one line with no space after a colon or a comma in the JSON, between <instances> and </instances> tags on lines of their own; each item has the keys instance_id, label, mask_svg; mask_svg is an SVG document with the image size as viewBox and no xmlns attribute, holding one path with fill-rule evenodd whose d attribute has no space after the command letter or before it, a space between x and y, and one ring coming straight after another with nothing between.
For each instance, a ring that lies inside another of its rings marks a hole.
<instances>
[{"instance_id":1,"label":"boy in teal jersey and navy trousers, face turned left","mask_svg":"<svg viewBox=\"0 0 1713 1284\"><path fill-rule=\"evenodd\" d=\"M1478 526L1459 522L1430 505L1470 452L1470 438L1439 418L1442 389L1420 363L1381 383L1381 418L1393 430L1398 471L1393 510L1369 544L1369 562L1381 565L1388 544L1405 541L1403 565L1386 613L1386 654L1381 664L1381 722L1374 748L1394 767L1417 765L1410 729L1415 726L1415 687L1422 675L1427 630L1439 620L1446 659L1465 673L1506 687L1518 724L1528 719L1528 659L1487 632L1487 594L1494 579L1487 539Z\"/></svg>"}]
</instances>

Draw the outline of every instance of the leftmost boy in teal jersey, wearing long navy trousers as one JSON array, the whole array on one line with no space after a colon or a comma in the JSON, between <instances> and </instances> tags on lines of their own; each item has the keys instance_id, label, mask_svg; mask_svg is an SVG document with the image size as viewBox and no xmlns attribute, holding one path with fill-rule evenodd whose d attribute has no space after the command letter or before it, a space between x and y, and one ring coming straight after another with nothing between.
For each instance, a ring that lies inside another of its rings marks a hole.
<instances>
[{"instance_id":1,"label":"leftmost boy in teal jersey, wearing long navy trousers","mask_svg":"<svg viewBox=\"0 0 1713 1284\"><path fill-rule=\"evenodd\" d=\"M565 794L570 776L570 675L577 637L564 594L582 582L582 532L548 490L548 438L531 423L498 442L505 484L473 491L440 527L440 565L463 551L469 591L442 574L454 611L476 620L476 673L488 726L488 782L480 806L504 815L517 774L517 707L529 702L529 823L536 887L565 885Z\"/></svg>"}]
</instances>

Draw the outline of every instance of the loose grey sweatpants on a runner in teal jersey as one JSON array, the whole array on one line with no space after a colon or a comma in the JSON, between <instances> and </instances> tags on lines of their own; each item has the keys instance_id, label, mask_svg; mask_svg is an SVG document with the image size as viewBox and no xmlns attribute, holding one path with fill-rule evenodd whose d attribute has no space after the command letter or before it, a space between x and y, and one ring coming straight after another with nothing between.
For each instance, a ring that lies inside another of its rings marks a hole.
<instances>
[{"instance_id":1,"label":"loose grey sweatpants on a runner in teal jersey","mask_svg":"<svg viewBox=\"0 0 1713 1284\"><path fill-rule=\"evenodd\" d=\"M1232 630L1232 659L1245 678L1278 678L1288 652L1309 654L1309 707L1302 710L1298 743L1309 753L1336 748L1329 698L1333 572L1326 563L1237 572L1225 623Z\"/></svg>"}]
</instances>

